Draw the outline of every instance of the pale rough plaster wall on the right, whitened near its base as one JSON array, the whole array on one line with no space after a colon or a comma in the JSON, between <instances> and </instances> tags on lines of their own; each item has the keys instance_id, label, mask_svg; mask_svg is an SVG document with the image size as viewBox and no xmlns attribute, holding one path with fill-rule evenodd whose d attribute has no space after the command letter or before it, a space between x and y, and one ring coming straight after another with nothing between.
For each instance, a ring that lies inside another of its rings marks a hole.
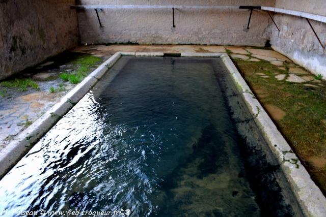
<instances>
[{"instance_id":1,"label":"pale rough plaster wall on the right, whitened near its base","mask_svg":"<svg viewBox=\"0 0 326 217\"><path fill-rule=\"evenodd\" d=\"M326 16L325 0L276 0L276 8L304 11ZM273 49L285 54L298 65L314 74L322 74L326 78L326 53L305 18L290 15L274 15L276 23L281 27L278 32L274 26L271 33ZM326 23L310 20L323 45L326 45Z\"/></svg>"}]
</instances>

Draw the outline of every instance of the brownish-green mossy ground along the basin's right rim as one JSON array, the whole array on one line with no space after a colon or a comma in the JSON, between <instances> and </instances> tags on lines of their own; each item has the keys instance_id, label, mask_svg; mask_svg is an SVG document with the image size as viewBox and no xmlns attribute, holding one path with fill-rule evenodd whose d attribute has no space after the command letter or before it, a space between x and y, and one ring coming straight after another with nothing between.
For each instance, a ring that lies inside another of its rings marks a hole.
<instances>
[{"instance_id":1,"label":"brownish-green mossy ground along the basin's right rim","mask_svg":"<svg viewBox=\"0 0 326 217\"><path fill-rule=\"evenodd\" d=\"M288 73L268 61L234 59L255 95L265 105L274 105L285 112L274 119L294 152L310 175L326 193L326 82L292 83L277 80L276 74ZM262 78L256 73L264 73ZM319 76L320 77L320 76Z\"/></svg>"}]
</instances>

